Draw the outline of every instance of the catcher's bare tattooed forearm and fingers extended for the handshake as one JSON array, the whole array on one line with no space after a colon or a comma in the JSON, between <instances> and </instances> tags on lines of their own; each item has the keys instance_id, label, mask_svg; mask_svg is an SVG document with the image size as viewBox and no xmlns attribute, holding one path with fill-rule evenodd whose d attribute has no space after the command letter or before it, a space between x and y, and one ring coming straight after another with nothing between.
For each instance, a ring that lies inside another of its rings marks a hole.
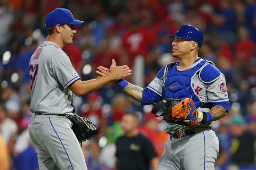
<instances>
[{"instance_id":1,"label":"catcher's bare tattooed forearm and fingers extended for the handshake","mask_svg":"<svg viewBox=\"0 0 256 170\"><path fill-rule=\"evenodd\" d=\"M96 71L97 74L103 76L106 75L110 69L107 69L106 67L103 66L98 66L98 70ZM134 100L137 100L141 103L142 101L142 88L139 86L136 86L132 83L128 83L127 86L123 89L123 91L129 95L131 98Z\"/></svg>"}]
</instances>

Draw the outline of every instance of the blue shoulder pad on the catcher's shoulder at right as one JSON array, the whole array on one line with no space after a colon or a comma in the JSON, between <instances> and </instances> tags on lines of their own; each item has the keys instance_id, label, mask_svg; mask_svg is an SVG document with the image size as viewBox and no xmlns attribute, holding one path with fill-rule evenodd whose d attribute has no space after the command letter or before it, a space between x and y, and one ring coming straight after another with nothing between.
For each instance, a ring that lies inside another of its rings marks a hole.
<instances>
[{"instance_id":1,"label":"blue shoulder pad on the catcher's shoulder at right","mask_svg":"<svg viewBox=\"0 0 256 170\"><path fill-rule=\"evenodd\" d=\"M206 64L199 73L200 79L203 82L210 83L220 76L220 70L213 64Z\"/></svg>"}]
</instances>

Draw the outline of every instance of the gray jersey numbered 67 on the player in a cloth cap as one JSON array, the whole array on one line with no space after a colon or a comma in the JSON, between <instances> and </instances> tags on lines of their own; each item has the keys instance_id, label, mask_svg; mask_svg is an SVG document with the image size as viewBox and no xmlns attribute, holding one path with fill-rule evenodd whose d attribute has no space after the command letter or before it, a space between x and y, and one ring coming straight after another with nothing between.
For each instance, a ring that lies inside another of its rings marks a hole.
<instances>
[{"instance_id":1,"label":"gray jersey numbered 67 on the player in a cloth cap","mask_svg":"<svg viewBox=\"0 0 256 170\"><path fill-rule=\"evenodd\" d=\"M29 62L31 112L67 114L74 111L71 105L74 94L67 87L80 79L69 57L51 41L45 41L31 56Z\"/></svg>"}]
</instances>

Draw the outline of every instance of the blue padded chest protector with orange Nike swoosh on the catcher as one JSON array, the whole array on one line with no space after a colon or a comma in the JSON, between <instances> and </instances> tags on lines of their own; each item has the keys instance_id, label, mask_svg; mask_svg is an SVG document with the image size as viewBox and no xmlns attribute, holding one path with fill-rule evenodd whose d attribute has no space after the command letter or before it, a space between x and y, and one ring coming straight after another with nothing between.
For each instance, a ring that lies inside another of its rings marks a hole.
<instances>
[{"instance_id":1,"label":"blue padded chest protector with orange Nike swoosh on the catcher","mask_svg":"<svg viewBox=\"0 0 256 170\"><path fill-rule=\"evenodd\" d=\"M192 89L191 77L193 77L207 61L203 60L191 69L185 71L178 71L177 66L179 63L171 63L168 66L166 73L166 80L164 83L164 98L191 98L194 101L196 108L199 107L200 100L195 95Z\"/></svg>"}]
</instances>

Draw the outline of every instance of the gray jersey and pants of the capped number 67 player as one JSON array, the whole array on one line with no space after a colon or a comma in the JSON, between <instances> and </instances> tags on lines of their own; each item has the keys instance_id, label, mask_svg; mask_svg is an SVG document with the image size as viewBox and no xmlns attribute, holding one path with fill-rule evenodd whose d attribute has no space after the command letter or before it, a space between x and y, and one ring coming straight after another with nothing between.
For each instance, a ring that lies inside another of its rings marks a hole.
<instances>
[{"instance_id":1,"label":"gray jersey and pants of the capped number 67 player","mask_svg":"<svg viewBox=\"0 0 256 170\"><path fill-rule=\"evenodd\" d=\"M67 87L79 76L69 57L57 44L45 41L29 64L29 109L34 112L29 137L36 147L39 169L87 169L72 123L60 115L74 112L74 94Z\"/></svg>"}]
</instances>

